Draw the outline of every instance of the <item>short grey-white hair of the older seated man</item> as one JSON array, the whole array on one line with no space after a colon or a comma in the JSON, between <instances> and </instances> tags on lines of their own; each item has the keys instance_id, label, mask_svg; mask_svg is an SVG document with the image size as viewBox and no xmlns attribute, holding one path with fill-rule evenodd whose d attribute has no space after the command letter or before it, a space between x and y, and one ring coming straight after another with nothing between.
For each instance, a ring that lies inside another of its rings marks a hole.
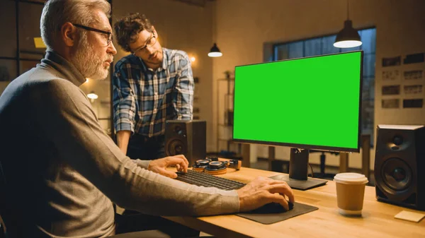
<instances>
[{"instance_id":1,"label":"short grey-white hair of the older seated man","mask_svg":"<svg viewBox=\"0 0 425 238\"><path fill-rule=\"evenodd\" d=\"M111 5L106 0L49 0L42 8L40 31L47 50L52 50L57 34L64 23L92 25L98 19L94 10L103 11L109 17ZM86 32L81 32L85 38Z\"/></svg>"}]
</instances>

